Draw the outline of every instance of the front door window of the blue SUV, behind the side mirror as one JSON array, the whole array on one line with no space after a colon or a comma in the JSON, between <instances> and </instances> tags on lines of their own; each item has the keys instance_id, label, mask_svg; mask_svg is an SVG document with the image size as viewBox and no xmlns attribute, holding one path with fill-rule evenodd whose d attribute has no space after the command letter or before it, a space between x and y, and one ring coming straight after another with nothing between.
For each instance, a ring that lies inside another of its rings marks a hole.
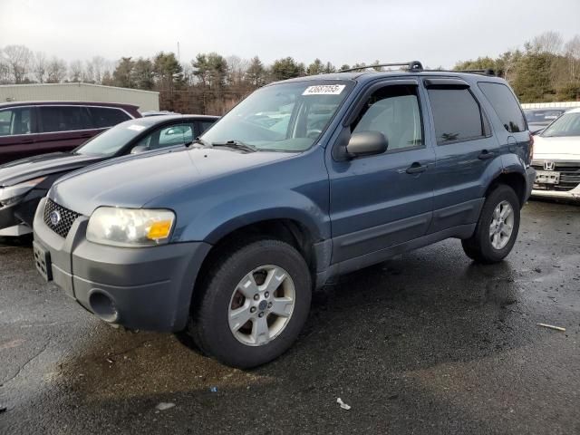
<instances>
[{"instance_id":1,"label":"front door window of the blue SUV, behind the side mirror","mask_svg":"<svg viewBox=\"0 0 580 435\"><path fill-rule=\"evenodd\" d=\"M416 86L385 86L372 93L354 123L353 133L380 131L388 150L423 144L419 98Z\"/></svg>"}]
</instances>

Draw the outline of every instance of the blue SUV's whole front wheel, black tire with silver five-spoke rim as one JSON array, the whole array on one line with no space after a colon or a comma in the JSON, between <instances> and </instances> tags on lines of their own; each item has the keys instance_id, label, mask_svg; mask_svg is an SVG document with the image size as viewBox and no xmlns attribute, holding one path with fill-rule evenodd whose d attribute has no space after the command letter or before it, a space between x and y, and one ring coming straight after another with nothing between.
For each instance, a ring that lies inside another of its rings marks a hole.
<instances>
[{"instance_id":1,"label":"blue SUV's whole front wheel, black tire with silver five-spoke rim","mask_svg":"<svg viewBox=\"0 0 580 435\"><path fill-rule=\"evenodd\" d=\"M270 362L304 326L312 299L310 270L294 247L278 240L249 242L221 254L196 292L188 332L202 352L232 367Z\"/></svg>"}]
</instances>

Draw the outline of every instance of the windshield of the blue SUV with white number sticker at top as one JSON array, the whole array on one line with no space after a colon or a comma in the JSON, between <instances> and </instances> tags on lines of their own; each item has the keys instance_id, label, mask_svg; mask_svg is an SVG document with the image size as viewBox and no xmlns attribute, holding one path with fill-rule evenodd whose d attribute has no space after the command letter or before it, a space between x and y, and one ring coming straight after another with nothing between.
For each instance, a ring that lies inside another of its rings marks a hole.
<instances>
[{"instance_id":1,"label":"windshield of the blue SUV with white number sticker at top","mask_svg":"<svg viewBox=\"0 0 580 435\"><path fill-rule=\"evenodd\" d=\"M352 82L308 81L266 86L250 94L201 138L236 141L256 150L304 151L326 129Z\"/></svg>"}]
</instances>

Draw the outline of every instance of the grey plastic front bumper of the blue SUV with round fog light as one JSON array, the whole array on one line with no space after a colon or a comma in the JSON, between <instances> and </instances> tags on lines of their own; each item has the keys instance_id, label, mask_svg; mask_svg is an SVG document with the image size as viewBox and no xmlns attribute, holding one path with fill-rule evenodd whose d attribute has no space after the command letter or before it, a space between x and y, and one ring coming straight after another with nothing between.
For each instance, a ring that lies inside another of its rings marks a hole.
<instances>
[{"instance_id":1,"label":"grey plastic front bumper of the blue SUV with round fog light","mask_svg":"<svg viewBox=\"0 0 580 435\"><path fill-rule=\"evenodd\" d=\"M105 322L130 329L177 332L185 328L198 270L210 245L108 247L87 241L89 218L79 217L66 238L34 217L34 244L48 253L56 285Z\"/></svg>"}]
</instances>

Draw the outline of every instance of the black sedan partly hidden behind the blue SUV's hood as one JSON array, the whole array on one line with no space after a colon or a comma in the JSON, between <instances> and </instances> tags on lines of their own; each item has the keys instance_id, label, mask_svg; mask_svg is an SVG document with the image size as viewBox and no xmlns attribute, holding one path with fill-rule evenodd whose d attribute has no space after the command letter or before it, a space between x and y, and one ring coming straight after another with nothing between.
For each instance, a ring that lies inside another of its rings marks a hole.
<instances>
[{"instance_id":1,"label":"black sedan partly hidden behind the blue SUV's hood","mask_svg":"<svg viewBox=\"0 0 580 435\"><path fill-rule=\"evenodd\" d=\"M217 120L217 116L161 115L125 121L71 152L0 166L0 236L30 233L38 202L64 174L126 154L182 146Z\"/></svg>"}]
</instances>

